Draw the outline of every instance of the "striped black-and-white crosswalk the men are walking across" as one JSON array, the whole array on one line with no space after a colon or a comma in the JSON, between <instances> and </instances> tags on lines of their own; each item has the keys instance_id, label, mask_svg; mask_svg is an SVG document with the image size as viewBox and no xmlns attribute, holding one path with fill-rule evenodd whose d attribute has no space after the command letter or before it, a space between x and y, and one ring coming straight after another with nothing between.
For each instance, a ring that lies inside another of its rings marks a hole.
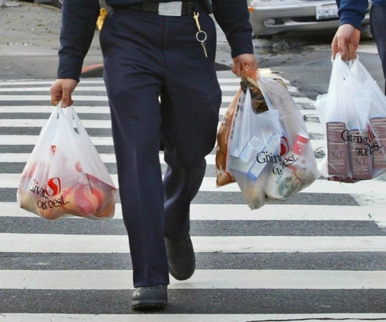
<instances>
[{"instance_id":1,"label":"striped black-and-white crosswalk the men are walking across","mask_svg":"<svg viewBox=\"0 0 386 322\"><path fill-rule=\"evenodd\" d=\"M221 118L239 85L229 71L218 77ZM356 184L318 179L251 211L237 184L216 187L215 150L191 205L197 271L187 281L171 278L165 311L132 311L119 197L111 220L48 221L16 203L20 174L52 111L51 84L0 82L0 322L386 319L384 177ZM325 142L313 102L288 89L320 162ZM83 79L73 98L118 186L103 80ZM162 152L160 162L164 171Z\"/></svg>"}]
</instances>

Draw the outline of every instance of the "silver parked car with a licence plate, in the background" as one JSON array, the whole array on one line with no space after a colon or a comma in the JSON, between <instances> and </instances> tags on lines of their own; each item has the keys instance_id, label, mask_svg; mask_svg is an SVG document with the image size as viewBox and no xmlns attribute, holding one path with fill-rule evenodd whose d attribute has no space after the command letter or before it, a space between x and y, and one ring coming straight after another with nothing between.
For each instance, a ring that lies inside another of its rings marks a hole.
<instances>
[{"instance_id":1,"label":"silver parked car with a licence plate, in the background","mask_svg":"<svg viewBox=\"0 0 386 322\"><path fill-rule=\"evenodd\" d=\"M369 7L363 25L369 24ZM250 23L255 37L286 32L336 30L335 0L249 0Z\"/></svg>"}]
</instances>

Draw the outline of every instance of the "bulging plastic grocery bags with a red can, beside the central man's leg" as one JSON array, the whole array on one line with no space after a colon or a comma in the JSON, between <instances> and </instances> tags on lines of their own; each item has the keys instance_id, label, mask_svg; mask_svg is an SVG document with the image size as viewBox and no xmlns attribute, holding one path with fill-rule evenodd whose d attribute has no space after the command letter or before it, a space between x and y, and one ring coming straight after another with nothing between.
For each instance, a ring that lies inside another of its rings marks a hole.
<instances>
[{"instance_id":1,"label":"bulging plastic grocery bags with a red can, beside the central man's leg","mask_svg":"<svg viewBox=\"0 0 386 322\"><path fill-rule=\"evenodd\" d=\"M224 159L218 157L224 147L218 146L217 184L235 180L248 206L257 209L308 187L319 171L303 116L286 86L272 78L256 81L247 76L241 88L228 122L225 165L218 162ZM224 173L228 180L219 180Z\"/></svg>"}]
</instances>

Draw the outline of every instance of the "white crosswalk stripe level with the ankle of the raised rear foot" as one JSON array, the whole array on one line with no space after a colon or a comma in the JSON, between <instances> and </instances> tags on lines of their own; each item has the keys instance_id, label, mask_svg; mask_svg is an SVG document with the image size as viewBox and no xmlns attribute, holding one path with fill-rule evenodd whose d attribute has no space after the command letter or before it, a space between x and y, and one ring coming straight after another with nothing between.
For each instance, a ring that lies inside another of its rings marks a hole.
<instances>
[{"instance_id":1,"label":"white crosswalk stripe level with the ankle of the raised rear foot","mask_svg":"<svg viewBox=\"0 0 386 322\"><path fill-rule=\"evenodd\" d=\"M191 238L197 253L386 252L386 236L192 236ZM0 240L2 240L0 252L130 252L126 235L0 233Z\"/></svg>"}]
</instances>

